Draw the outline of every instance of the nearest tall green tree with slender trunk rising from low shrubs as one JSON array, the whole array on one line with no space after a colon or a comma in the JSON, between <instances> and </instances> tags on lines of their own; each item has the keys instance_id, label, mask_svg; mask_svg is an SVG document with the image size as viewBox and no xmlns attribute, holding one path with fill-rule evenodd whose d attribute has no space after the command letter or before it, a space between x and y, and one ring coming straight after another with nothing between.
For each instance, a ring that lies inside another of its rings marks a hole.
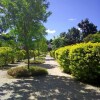
<instances>
[{"instance_id":1,"label":"nearest tall green tree with slender trunk rising from low shrubs","mask_svg":"<svg viewBox=\"0 0 100 100\"><path fill-rule=\"evenodd\" d=\"M46 0L1 0L0 12L5 28L15 29L20 41L25 46L29 68L29 50L33 38L44 35L38 32L51 14L47 11L49 3ZM44 29L43 29L44 30Z\"/></svg>"}]
</instances>

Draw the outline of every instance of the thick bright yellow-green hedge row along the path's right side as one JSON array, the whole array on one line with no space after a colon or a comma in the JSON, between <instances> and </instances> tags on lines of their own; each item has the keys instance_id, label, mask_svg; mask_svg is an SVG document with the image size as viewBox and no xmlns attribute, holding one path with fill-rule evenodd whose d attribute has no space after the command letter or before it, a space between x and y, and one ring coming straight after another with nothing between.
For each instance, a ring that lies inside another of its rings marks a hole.
<instances>
[{"instance_id":1,"label":"thick bright yellow-green hedge row along the path's right side","mask_svg":"<svg viewBox=\"0 0 100 100\"><path fill-rule=\"evenodd\" d=\"M86 82L100 80L100 43L62 47L53 55L63 70Z\"/></svg>"}]
</instances>

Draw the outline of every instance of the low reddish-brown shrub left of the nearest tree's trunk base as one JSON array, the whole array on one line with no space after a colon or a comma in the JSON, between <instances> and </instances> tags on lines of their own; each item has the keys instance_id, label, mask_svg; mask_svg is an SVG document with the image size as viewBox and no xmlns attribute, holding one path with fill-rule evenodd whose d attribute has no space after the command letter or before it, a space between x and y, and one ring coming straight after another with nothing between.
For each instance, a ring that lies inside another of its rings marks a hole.
<instances>
[{"instance_id":1,"label":"low reddish-brown shrub left of the nearest tree's trunk base","mask_svg":"<svg viewBox=\"0 0 100 100\"><path fill-rule=\"evenodd\" d=\"M11 68L7 71L7 73L13 77L28 77L28 76L30 76L30 73L26 67Z\"/></svg>"}]
</instances>

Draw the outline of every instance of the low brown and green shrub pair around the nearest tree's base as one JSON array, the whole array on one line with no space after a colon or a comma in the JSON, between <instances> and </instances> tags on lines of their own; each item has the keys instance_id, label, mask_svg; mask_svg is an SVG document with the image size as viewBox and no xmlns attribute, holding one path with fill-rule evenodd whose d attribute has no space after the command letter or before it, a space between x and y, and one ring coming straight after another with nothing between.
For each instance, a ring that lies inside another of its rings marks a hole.
<instances>
[{"instance_id":1,"label":"low brown and green shrub pair around the nearest tree's base","mask_svg":"<svg viewBox=\"0 0 100 100\"><path fill-rule=\"evenodd\" d=\"M39 76L39 75L47 75L48 72L45 68L32 66L30 69L26 67L16 67L11 68L7 71L7 73L12 77L30 77L30 76Z\"/></svg>"}]
</instances>

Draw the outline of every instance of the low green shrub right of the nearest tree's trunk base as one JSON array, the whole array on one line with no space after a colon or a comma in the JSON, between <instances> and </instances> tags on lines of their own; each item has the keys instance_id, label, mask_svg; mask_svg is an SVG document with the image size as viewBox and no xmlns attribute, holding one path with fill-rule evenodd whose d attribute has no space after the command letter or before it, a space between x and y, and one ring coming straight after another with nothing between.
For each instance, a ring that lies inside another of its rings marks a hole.
<instances>
[{"instance_id":1,"label":"low green shrub right of the nearest tree's trunk base","mask_svg":"<svg viewBox=\"0 0 100 100\"><path fill-rule=\"evenodd\" d=\"M42 67L30 67L29 69L32 76L40 76L40 75L47 75L48 72L45 68Z\"/></svg>"}]
</instances>

